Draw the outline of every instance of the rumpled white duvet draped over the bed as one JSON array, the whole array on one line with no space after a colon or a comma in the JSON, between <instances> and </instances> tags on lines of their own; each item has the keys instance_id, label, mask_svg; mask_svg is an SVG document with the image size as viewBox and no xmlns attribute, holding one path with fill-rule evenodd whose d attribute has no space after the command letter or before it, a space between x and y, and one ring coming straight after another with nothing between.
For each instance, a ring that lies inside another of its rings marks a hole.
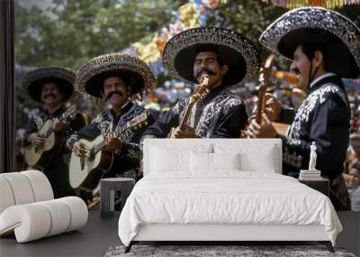
<instances>
[{"instance_id":1,"label":"rumpled white duvet draped over the bed","mask_svg":"<svg viewBox=\"0 0 360 257\"><path fill-rule=\"evenodd\" d=\"M121 242L148 224L324 225L333 245L342 231L329 197L288 176L236 170L140 179L121 212Z\"/></svg>"}]
</instances>

